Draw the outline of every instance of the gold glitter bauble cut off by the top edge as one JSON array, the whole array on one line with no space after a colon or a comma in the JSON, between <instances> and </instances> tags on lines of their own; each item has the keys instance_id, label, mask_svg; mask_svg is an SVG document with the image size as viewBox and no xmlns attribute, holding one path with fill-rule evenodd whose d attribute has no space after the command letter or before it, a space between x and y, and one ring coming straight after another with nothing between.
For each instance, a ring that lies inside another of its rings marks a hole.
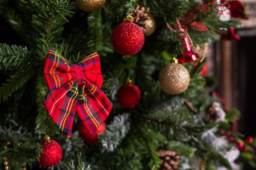
<instances>
[{"instance_id":1,"label":"gold glitter bauble cut off by the top edge","mask_svg":"<svg viewBox=\"0 0 256 170\"><path fill-rule=\"evenodd\" d=\"M75 0L77 6L86 12L93 12L100 9L106 0Z\"/></svg>"}]
</instances>

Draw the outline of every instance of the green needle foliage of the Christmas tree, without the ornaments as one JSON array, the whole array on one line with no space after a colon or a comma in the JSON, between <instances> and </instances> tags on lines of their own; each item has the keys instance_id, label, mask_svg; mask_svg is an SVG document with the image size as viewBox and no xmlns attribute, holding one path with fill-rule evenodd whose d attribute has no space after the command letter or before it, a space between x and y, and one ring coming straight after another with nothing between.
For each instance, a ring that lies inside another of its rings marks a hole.
<instances>
[{"instance_id":1,"label":"green needle foliage of the Christmas tree, without the ornaments","mask_svg":"<svg viewBox=\"0 0 256 170\"><path fill-rule=\"evenodd\" d=\"M111 45L111 33L137 5L150 8L157 28L145 37L139 53L122 56ZM204 132L225 126L200 118L209 104L219 102L209 96L204 88L207 81L200 76L207 59L198 61L197 67L195 62L183 64L191 81L180 95L166 94L158 82L161 68L183 52L180 32L168 29L164 17L173 26L176 18L199 5L191 0L106 0L101 9L88 13L71 0L0 0L0 15L21 39L20 45L0 43L0 74L4 77L0 80L0 160L8 159L9 170L20 170L22 163L36 169L42 136L49 135L63 149L63 158L54 167L58 170L153 170L161 166L161 148L181 156L180 169L194 161L207 170L219 166L231 170L229 161L202 139ZM219 20L213 4L210 9L208 13L197 11L196 18L207 31L188 26L194 45L216 41L221 27L238 24ZM48 89L43 66L50 48L72 64L94 52L100 56L102 91L113 108L106 131L98 135L98 145L84 144L77 114L72 137L67 139L45 112L42 100ZM127 77L141 90L139 104L129 109L122 108L116 99ZM228 121L233 118L239 118L238 110L227 113ZM187 169L200 167L191 163Z\"/></svg>"}]
</instances>

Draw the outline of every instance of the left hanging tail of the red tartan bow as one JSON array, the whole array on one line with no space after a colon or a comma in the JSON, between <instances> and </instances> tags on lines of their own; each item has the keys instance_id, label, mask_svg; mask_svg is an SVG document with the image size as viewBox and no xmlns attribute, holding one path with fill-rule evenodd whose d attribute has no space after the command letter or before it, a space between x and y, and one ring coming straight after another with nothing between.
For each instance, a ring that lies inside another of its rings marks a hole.
<instances>
[{"instance_id":1,"label":"left hanging tail of the red tartan bow","mask_svg":"<svg viewBox=\"0 0 256 170\"><path fill-rule=\"evenodd\" d=\"M71 137L78 104L77 96L77 83L69 82L61 88L49 91L43 99L43 105L49 117L66 137Z\"/></svg>"}]
</instances>

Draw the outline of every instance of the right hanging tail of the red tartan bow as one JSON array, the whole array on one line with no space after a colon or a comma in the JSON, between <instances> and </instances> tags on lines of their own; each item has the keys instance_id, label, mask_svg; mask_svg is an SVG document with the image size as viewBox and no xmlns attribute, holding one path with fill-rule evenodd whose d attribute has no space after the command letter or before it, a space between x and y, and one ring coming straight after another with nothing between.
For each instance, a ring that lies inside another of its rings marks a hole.
<instances>
[{"instance_id":1,"label":"right hanging tail of the red tartan bow","mask_svg":"<svg viewBox=\"0 0 256 170\"><path fill-rule=\"evenodd\" d=\"M79 86L78 106L76 111L90 134L95 134L106 120L112 109L112 103L97 86L86 82Z\"/></svg>"}]
</instances>

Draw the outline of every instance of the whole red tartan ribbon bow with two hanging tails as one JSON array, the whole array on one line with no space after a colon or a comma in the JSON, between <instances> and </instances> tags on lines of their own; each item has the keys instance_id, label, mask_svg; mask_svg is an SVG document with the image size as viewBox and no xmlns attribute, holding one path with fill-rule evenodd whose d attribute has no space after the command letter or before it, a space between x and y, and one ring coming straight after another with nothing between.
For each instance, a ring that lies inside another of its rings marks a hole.
<instances>
[{"instance_id":1,"label":"whole red tartan ribbon bow with two hanging tails","mask_svg":"<svg viewBox=\"0 0 256 170\"><path fill-rule=\"evenodd\" d=\"M61 132L71 137L77 111L90 134L94 134L112 109L112 103L101 91L99 55L93 53L78 64L68 64L49 49L43 73L49 89L43 105Z\"/></svg>"}]
</instances>

